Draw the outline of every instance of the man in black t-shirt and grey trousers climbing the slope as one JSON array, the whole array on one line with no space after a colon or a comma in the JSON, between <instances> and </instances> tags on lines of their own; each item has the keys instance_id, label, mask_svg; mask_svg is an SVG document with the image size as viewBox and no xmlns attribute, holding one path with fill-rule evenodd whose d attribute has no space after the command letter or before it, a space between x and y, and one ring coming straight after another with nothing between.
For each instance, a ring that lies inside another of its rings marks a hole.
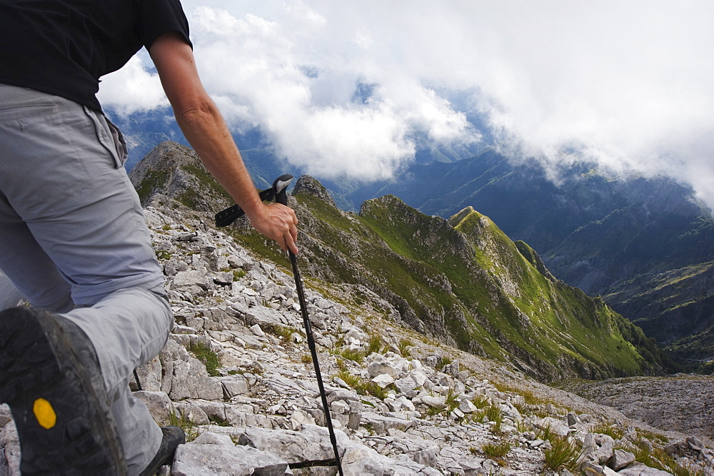
<instances>
[{"instance_id":1,"label":"man in black t-shirt and grey trousers climbing the slope","mask_svg":"<svg viewBox=\"0 0 714 476\"><path fill-rule=\"evenodd\" d=\"M176 120L259 232L297 252L193 62L178 0L0 0L0 269L30 308L0 313L0 402L23 474L152 474L183 432L129 390L174 326L126 146L99 78L149 50Z\"/></svg>"}]
</instances>

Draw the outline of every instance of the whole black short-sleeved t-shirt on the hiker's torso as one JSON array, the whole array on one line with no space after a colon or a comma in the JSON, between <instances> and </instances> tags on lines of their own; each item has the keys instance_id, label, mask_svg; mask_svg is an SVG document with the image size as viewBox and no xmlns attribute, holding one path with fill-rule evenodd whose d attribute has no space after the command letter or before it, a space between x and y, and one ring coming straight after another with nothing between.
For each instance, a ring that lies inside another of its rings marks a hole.
<instances>
[{"instance_id":1,"label":"whole black short-sleeved t-shirt on the hiker's torso","mask_svg":"<svg viewBox=\"0 0 714 476\"><path fill-rule=\"evenodd\" d=\"M0 83L99 111L99 78L169 31L191 44L179 0L0 0Z\"/></svg>"}]
</instances>

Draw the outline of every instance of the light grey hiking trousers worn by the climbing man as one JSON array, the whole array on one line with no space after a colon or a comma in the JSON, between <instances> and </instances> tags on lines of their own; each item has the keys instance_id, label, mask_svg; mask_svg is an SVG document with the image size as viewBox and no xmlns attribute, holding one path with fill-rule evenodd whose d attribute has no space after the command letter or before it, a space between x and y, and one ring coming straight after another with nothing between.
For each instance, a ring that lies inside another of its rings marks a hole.
<instances>
[{"instance_id":1,"label":"light grey hiking trousers worn by the climbing man","mask_svg":"<svg viewBox=\"0 0 714 476\"><path fill-rule=\"evenodd\" d=\"M116 133L78 103L0 84L0 269L31 305L89 336L138 474L161 428L129 380L164 347L174 318Z\"/></svg>"}]
</instances>

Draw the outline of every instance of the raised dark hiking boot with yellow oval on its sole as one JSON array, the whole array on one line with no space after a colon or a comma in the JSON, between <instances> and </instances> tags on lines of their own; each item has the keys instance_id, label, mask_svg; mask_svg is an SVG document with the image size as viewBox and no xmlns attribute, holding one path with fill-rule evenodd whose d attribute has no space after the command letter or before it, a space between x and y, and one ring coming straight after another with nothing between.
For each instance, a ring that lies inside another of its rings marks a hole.
<instances>
[{"instance_id":1,"label":"raised dark hiking boot with yellow oval on its sole","mask_svg":"<svg viewBox=\"0 0 714 476\"><path fill-rule=\"evenodd\" d=\"M61 315L0 313L0 402L12 410L23 475L126 475L94 346Z\"/></svg>"}]
</instances>

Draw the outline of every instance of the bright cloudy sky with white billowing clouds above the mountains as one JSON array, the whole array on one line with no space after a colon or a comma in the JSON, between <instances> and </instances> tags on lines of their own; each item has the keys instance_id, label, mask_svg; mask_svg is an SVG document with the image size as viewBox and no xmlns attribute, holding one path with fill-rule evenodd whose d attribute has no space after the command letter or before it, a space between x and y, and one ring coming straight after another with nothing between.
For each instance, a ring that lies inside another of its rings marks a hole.
<instances>
[{"instance_id":1,"label":"bright cloudy sky with white billowing clouds above the mountains","mask_svg":"<svg viewBox=\"0 0 714 476\"><path fill-rule=\"evenodd\" d=\"M315 176L388 178L425 143L494 141L515 160L670 176L714 206L713 1L182 4L229 126L260 127ZM140 52L100 101L166 108L152 66Z\"/></svg>"}]
</instances>

